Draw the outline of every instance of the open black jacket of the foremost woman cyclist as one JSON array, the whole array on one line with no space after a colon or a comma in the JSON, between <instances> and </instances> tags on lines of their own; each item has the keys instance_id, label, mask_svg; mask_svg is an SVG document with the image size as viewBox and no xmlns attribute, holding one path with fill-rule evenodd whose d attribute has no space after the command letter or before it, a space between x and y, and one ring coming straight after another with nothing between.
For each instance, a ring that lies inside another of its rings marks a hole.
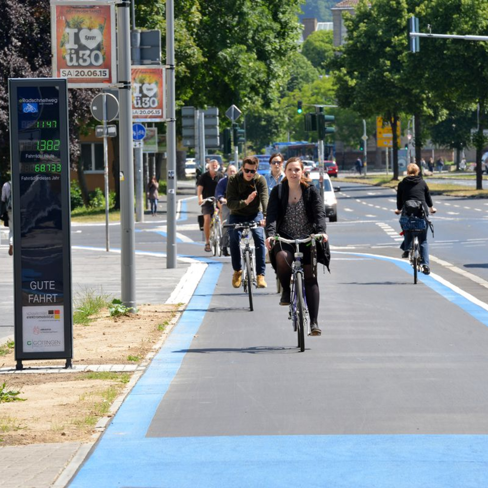
<instances>
[{"instance_id":1,"label":"open black jacket of the foremost woman cyclist","mask_svg":"<svg viewBox=\"0 0 488 488\"><path fill-rule=\"evenodd\" d=\"M288 196L289 187L286 180L277 184L271 190L266 210L266 237L272 237L280 233L288 205ZM325 223L325 207L324 202L320 198L319 190L313 184L307 187L302 185L302 196L305 204L305 213L313 225L314 233L325 234L327 229L327 224ZM328 242L317 246L317 260L319 263L325 264L328 269L330 261Z\"/></svg>"}]
</instances>

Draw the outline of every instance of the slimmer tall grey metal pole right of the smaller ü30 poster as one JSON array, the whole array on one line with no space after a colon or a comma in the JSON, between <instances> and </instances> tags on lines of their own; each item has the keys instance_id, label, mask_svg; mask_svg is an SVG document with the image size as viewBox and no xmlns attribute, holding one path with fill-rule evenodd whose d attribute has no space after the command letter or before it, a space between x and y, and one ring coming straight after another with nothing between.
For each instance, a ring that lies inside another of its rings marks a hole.
<instances>
[{"instance_id":1,"label":"slimmer tall grey metal pole right of the smaller \u00fc30 poster","mask_svg":"<svg viewBox=\"0 0 488 488\"><path fill-rule=\"evenodd\" d=\"M167 141L167 241L166 268L177 267L176 249L176 113L174 0L166 0L166 141Z\"/></svg>"}]
</instances>

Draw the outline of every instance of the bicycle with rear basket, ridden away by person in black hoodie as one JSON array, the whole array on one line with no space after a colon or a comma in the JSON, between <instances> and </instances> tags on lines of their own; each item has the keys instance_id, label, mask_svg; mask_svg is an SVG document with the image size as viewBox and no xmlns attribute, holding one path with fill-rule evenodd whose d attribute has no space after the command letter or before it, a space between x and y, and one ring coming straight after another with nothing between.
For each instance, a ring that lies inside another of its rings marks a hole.
<instances>
[{"instance_id":1,"label":"bicycle with rear basket, ridden away by person in black hoodie","mask_svg":"<svg viewBox=\"0 0 488 488\"><path fill-rule=\"evenodd\" d=\"M408 210L407 204L410 204L412 208L416 208L417 210L413 211ZM431 207L430 213L434 214L436 209ZM420 243L419 243L419 236L426 232L427 226L430 227L432 232L432 237L434 236L434 227L432 222L427 217L427 214L423 208L422 202L420 201L412 201L408 200L402 210L395 210L396 214L402 214L400 217L400 226L402 227L401 234L405 237L405 232L409 232L411 242L410 247L405 249L404 254L408 253L408 259L410 264L413 268L413 283L414 285L417 284L418 281L418 273L423 272L424 274L429 274L430 270L427 268L427 271L422 269L422 254L420 251ZM426 238L427 239L427 238ZM407 256L405 256L407 257ZM425 266L427 267L427 266Z\"/></svg>"}]
</instances>

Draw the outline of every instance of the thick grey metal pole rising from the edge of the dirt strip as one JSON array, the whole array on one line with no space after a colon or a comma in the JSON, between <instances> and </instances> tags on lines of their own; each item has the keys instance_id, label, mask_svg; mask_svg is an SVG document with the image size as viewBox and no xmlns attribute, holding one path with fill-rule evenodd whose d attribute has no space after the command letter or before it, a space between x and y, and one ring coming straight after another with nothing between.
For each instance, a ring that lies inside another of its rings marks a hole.
<instances>
[{"instance_id":1,"label":"thick grey metal pole rising from the edge of the dirt strip","mask_svg":"<svg viewBox=\"0 0 488 488\"><path fill-rule=\"evenodd\" d=\"M119 129L121 166L121 295L122 304L136 309L136 267L134 238L134 162L132 157L132 97L129 42L130 1L117 4L119 52Z\"/></svg>"}]
</instances>

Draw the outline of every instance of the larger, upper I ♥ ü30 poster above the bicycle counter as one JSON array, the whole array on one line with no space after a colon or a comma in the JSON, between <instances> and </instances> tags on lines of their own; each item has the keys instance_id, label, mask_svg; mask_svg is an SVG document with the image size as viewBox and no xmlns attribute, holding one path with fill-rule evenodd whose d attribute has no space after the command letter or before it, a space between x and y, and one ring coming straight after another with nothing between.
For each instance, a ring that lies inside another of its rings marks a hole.
<instances>
[{"instance_id":1,"label":"larger, upper I \u2665 \u00fc30 poster above the bicycle counter","mask_svg":"<svg viewBox=\"0 0 488 488\"><path fill-rule=\"evenodd\" d=\"M51 0L51 49L53 77L68 88L116 83L114 0Z\"/></svg>"}]
</instances>

